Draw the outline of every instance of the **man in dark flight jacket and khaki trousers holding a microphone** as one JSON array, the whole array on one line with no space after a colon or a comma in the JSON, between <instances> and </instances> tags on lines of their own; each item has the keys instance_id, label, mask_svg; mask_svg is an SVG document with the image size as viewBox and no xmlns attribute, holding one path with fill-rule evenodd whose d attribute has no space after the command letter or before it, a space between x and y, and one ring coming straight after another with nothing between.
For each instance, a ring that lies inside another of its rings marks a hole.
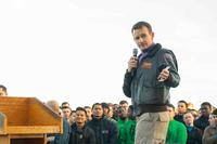
<instances>
[{"instance_id":1,"label":"man in dark flight jacket and khaki trousers holding a microphone","mask_svg":"<svg viewBox=\"0 0 217 144\"><path fill-rule=\"evenodd\" d=\"M146 22L133 25L132 37L141 54L128 61L123 90L131 97L135 115L137 144L165 143L169 116L169 89L179 84L176 56L173 51L154 43L154 32Z\"/></svg>"}]
</instances>

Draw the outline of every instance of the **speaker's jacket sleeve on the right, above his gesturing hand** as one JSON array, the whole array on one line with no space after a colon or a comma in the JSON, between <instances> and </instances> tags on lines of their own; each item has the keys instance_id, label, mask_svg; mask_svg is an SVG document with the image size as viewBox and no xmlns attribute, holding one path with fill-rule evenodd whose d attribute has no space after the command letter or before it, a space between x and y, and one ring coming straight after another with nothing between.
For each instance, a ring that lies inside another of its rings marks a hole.
<instances>
[{"instance_id":1,"label":"speaker's jacket sleeve on the right, above his gesturing hand","mask_svg":"<svg viewBox=\"0 0 217 144\"><path fill-rule=\"evenodd\" d=\"M165 81L167 87L176 88L179 86L180 76L178 74L178 64L173 51L163 49L161 65L169 66L169 78Z\"/></svg>"}]
</instances>

